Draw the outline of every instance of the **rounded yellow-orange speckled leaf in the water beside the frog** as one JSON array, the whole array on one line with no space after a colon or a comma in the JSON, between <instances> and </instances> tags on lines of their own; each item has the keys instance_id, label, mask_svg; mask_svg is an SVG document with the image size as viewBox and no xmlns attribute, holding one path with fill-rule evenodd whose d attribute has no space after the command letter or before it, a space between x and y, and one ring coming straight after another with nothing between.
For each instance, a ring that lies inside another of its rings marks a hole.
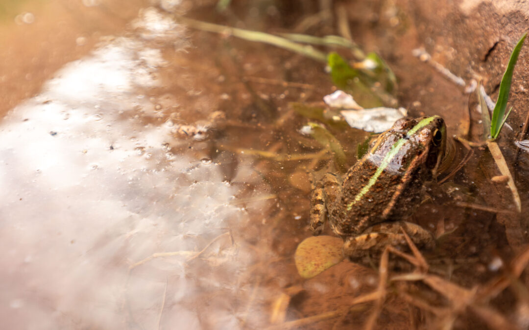
<instances>
[{"instance_id":1,"label":"rounded yellow-orange speckled leaf in the water beside the frog","mask_svg":"<svg viewBox=\"0 0 529 330\"><path fill-rule=\"evenodd\" d=\"M294 260L299 275L311 278L343 260L343 240L332 236L314 236L299 243Z\"/></svg>"}]
</instances>

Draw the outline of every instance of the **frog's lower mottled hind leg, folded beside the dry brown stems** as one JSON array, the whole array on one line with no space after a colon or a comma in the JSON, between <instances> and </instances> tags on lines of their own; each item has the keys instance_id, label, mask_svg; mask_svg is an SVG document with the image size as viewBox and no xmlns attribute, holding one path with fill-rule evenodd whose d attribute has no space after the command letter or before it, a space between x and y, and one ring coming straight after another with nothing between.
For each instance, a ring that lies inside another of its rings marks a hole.
<instances>
[{"instance_id":1,"label":"frog's lower mottled hind leg, folded beside the dry brown stems","mask_svg":"<svg viewBox=\"0 0 529 330\"><path fill-rule=\"evenodd\" d=\"M353 262L369 263L370 259L378 260L388 245L401 251L409 251L400 228L404 229L417 248L435 247L435 240L430 232L414 223L396 221L373 225L360 235L349 237L343 244L343 254Z\"/></svg>"}]
</instances>

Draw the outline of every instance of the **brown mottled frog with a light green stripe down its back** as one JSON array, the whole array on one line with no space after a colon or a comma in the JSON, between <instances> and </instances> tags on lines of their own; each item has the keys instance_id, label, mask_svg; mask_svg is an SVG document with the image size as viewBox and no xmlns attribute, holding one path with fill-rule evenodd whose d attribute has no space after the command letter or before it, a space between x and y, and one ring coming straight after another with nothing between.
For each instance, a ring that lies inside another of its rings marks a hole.
<instances>
[{"instance_id":1,"label":"brown mottled frog with a light green stripe down its back","mask_svg":"<svg viewBox=\"0 0 529 330\"><path fill-rule=\"evenodd\" d=\"M326 173L313 184L310 228L325 223L344 240L343 254L366 263L391 245L407 250L403 231L419 249L433 249L433 235L406 221L435 181L446 153L446 125L440 116L401 118L381 133L343 176Z\"/></svg>"}]
</instances>

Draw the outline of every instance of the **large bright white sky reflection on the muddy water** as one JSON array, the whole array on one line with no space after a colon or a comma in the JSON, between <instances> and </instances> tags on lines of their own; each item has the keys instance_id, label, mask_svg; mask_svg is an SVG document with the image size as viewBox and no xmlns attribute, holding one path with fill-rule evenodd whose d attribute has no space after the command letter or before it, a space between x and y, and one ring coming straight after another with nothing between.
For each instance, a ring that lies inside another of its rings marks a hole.
<instances>
[{"instance_id":1,"label":"large bright white sky reflection on the muddy water","mask_svg":"<svg viewBox=\"0 0 529 330\"><path fill-rule=\"evenodd\" d=\"M239 326L236 181L168 152L183 143L174 127L144 119L161 105L138 91L159 86L165 62L142 38L178 31L156 15L67 64L0 126L5 328Z\"/></svg>"}]
</instances>

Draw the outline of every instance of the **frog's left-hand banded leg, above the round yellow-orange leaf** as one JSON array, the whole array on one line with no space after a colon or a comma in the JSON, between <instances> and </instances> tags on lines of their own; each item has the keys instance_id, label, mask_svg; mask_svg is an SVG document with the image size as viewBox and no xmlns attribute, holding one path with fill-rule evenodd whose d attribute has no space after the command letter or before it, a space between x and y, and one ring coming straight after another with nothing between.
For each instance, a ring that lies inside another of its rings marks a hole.
<instances>
[{"instance_id":1,"label":"frog's left-hand banded leg, above the round yellow-orange leaf","mask_svg":"<svg viewBox=\"0 0 529 330\"><path fill-rule=\"evenodd\" d=\"M315 235L322 233L327 217L334 216L337 201L342 195L338 178L331 173L313 187L311 195L311 230Z\"/></svg>"}]
</instances>

